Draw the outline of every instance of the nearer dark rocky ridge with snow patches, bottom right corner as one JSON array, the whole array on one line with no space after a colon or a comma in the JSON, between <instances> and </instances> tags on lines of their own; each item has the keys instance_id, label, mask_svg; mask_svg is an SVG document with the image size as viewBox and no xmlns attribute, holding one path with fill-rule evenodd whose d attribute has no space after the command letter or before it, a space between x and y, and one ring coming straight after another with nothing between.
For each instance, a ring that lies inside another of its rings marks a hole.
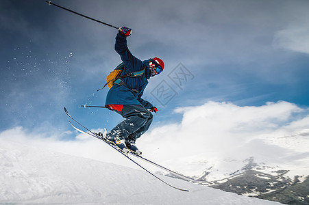
<instances>
[{"instance_id":1,"label":"nearer dark rocky ridge with snow patches, bottom right corner","mask_svg":"<svg viewBox=\"0 0 309 205\"><path fill-rule=\"evenodd\" d=\"M303 182L298 176L286 178L286 172L282 170L277 175L271 175L251 169L211 187L283 204L309 204L309 178Z\"/></svg>"}]
</instances>

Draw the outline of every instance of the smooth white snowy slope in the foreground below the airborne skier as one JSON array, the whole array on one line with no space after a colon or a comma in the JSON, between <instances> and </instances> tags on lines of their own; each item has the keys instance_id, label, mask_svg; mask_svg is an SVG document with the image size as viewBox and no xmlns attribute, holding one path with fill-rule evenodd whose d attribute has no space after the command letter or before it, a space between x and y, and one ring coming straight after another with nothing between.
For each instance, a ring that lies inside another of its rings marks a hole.
<instances>
[{"instance_id":1,"label":"smooth white snowy slope in the foreground below the airborne skier","mask_svg":"<svg viewBox=\"0 0 309 205\"><path fill-rule=\"evenodd\" d=\"M117 154L117 153L115 153ZM0 203L279 204L0 139Z\"/></svg>"}]
</instances>

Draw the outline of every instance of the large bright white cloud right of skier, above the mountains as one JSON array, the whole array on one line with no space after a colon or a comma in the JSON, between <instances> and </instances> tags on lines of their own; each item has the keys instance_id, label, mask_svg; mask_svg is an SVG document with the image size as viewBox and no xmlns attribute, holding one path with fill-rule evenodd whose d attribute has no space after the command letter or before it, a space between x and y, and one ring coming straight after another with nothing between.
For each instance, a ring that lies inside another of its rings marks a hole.
<instances>
[{"instance_id":1,"label":"large bright white cloud right of skier, above the mountains","mask_svg":"<svg viewBox=\"0 0 309 205\"><path fill-rule=\"evenodd\" d=\"M210 101L177 108L175 113L183 115L182 122L153 128L137 145L145 156L176 169L187 169L184 166L194 161L208 161L209 168L225 159L243 161L251 156L259 163L284 165L290 155L308 156L299 155L307 151L297 146L308 144L308 136L282 138L308 131L308 110L290 102L240 107ZM182 167L177 165L180 161Z\"/></svg>"}]
</instances>

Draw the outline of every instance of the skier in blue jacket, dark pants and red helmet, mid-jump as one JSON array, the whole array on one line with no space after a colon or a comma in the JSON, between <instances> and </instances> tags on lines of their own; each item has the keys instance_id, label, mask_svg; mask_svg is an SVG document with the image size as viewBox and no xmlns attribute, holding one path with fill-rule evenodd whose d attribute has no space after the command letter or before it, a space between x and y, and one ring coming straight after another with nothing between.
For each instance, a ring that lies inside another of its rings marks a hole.
<instances>
[{"instance_id":1,"label":"skier in blue jacket, dark pants and red helmet, mid-jump","mask_svg":"<svg viewBox=\"0 0 309 205\"><path fill-rule=\"evenodd\" d=\"M106 107L122 115L125 120L108 132L106 139L125 153L132 150L136 154L141 154L135 141L148 130L153 120L151 111L158 111L150 102L143 100L142 96L148 79L163 71L164 62L158 57L145 61L134 57L127 48L127 36L131 33L132 29L121 27L116 36L115 51L125 65L121 76L134 72L143 74L138 77L117 79L110 88L106 96Z\"/></svg>"}]
</instances>

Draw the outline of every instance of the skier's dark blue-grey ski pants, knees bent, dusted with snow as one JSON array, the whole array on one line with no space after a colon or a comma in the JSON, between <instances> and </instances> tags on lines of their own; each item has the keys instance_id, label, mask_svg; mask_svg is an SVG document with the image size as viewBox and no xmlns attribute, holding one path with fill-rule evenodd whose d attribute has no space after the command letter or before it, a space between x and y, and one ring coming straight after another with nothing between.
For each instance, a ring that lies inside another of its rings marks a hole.
<instances>
[{"instance_id":1,"label":"skier's dark blue-grey ski pants, knees bent, dusted with snow","mask_svg":"<svg viewBox=\"0 0 309 205\"><path fill-rule=\"evenodd\" d=\"M141 105L123 105L121 111L113 109L119 113L125 120L117 124L107 133L108 139L125 139L125 141L134 143L149 128L153 115Z\"/></svg>"}]
</instances>

